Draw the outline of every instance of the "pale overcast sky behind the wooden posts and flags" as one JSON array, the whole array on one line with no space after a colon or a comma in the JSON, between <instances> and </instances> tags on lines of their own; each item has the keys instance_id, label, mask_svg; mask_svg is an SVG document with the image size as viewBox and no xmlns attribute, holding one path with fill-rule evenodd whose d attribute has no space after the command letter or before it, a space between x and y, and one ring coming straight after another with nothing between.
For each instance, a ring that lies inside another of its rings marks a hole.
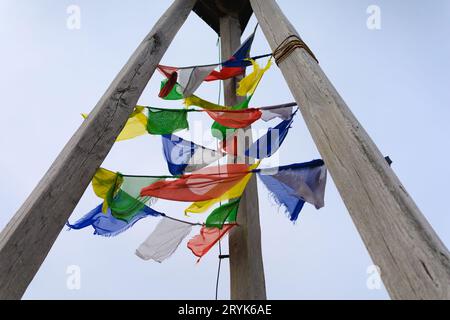
<instances>
[{"instance_id":1,"label":"pale overcast sky behind the wooden posts and flags","mask_svg":"<svg viewBox=\"0 0 450 320\"><path fill-rule=\"evenodd\" d=\"M0 0L0 229L81 124L80 113L94 107L170 3ZM71 4L81 8L80 30L66 27L66 9ZM380 150L393 159L393 168L406 189L450 246L446 205L450 1L280 0L279 4ZM366 9L372 4L381 8L381 30L366 26ZM253 17L244 36L255 23ZM191 14L162 62L175 66L217 62L216 41L217 35ZM259 30L252 53L269 51ZM140 104L180 107L178 102L167 103L157 97L160 80L155 73ZM205 84L198 91L211 101L217 100L217 94L217 83ZM292 100L274 65L252 105ZM202 121L206 128L211 121L204 115L192 120ZM266 127L266 123L258 123L255 129ZM277 156L280 164L320 157L300 116ZM167 173L160 138L149 135L117 143L103 166L128 174ZM268 298L388 298L383 287L367 287L367 268L372 261L331 177L326 207L316 211L305 205L296 225L272 204L261 184L259 191ZM70 221L98 203L89 188ZM159 201L155 209L182 217L186 206ZM115 238L94 236L91 228L62 230L24 298L214 298L217 247L199 264L186 241L163 264L134 255L157 223L156 218L141 220ZM198 229L191 236L196 233ZM80 290L66 286L70 265L80 267ZM228 263L223 266L219 297L228 299Z\"/></svg>"}]
</instances>

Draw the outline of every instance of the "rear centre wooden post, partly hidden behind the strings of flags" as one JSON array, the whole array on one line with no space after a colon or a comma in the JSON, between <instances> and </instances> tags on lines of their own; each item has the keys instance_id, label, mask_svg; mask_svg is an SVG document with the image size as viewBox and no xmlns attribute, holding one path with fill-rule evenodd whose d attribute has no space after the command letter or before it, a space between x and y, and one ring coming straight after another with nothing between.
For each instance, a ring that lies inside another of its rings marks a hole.
<instances>
[{"instance_id":1,"label":"rear centre wooden post, partly hidden behind the strings of flags","mask_svg":"<svg viewBox=\"0 0 450 320\"><path fill-rule=\"evenodd\" d=\"M230 15L220 18L222 57L230 57L240 46L241 26L239 20ZM232 106L243 101L236 96L239 79L224 81L225 104ZM251 129L241 132L240 137L251 138ZM239 139L242 143L242 139ZM245 162L238 156L237 162ZM230 232L230 292L233 300L266 299L264 267L261 252L261 228L259 223L259 205L256 177L250 180L242 196L238 212L237 228Z\"/></svg>"}]
</instances>

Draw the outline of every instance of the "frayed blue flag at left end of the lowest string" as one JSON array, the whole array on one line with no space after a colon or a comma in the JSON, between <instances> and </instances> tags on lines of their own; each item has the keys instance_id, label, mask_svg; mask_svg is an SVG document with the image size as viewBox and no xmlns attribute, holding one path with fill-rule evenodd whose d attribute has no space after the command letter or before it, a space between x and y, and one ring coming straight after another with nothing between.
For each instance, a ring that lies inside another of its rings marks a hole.
<instances>
[{"instance_id":1,"label":"frayed blue flag at left end of the lowest string","mask_svg":"<svg viewBox=\"0 0 450 320\"><path fill-rule=\"evenodd\" d=\"M90 211L88 214L86 214L83 218L81 218L74 224L70 224L69 222L67 222L67 226L70 229L75 230L80 230L92 226L94 228L95 235L112 237L128 230L142 218L148 216L156 217L161 215L160 212L145 206L134 215L133 219L131 219L130 221L124 221L115 218L111 214L111 209L109 208L106 213L103 213L102 206L103 204L98 205L95 209Z\"/></svg>"}]
</instances>

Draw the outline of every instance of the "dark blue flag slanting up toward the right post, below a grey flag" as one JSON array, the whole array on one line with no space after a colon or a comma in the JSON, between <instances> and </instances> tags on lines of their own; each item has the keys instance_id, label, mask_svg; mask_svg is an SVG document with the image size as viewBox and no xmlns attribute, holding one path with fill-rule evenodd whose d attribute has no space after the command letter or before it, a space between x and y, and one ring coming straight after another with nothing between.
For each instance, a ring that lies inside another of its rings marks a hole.
<instances>
[{"instance_id":1,"label":"dark blue flag slanting up toward the right post, below a grey flag","mask_svg":"<svg viewBox=\"0 0 450 320\"><path fill-rule=\"evenodd\" d=\"M245 151L245 155L254 159L271 157L278 151L286 138L292 122L294 121L294 115L295 113L291 115L290 119L280 122L274 128L269 128L264 136L256 140L250 148Z\"/></svg>"}]
</instances>

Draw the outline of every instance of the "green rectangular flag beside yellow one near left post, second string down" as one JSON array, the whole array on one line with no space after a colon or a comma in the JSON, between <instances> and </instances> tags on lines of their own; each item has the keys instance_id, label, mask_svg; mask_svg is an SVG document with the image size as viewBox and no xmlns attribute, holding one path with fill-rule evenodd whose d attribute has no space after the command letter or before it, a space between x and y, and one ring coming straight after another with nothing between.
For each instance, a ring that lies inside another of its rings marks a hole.
<instances>
[{"instance_id":1,"label":"green rectangular flag beside yellow one near left post, second string down","mask_svg":"<svg viewBox=\"0 0 450 320\"><path fill-rule=\"evenodd\" d=\"M150 134L171 134L188 129L187 110L148 108L147 131Z\"/></svg>"}]
</instances>

